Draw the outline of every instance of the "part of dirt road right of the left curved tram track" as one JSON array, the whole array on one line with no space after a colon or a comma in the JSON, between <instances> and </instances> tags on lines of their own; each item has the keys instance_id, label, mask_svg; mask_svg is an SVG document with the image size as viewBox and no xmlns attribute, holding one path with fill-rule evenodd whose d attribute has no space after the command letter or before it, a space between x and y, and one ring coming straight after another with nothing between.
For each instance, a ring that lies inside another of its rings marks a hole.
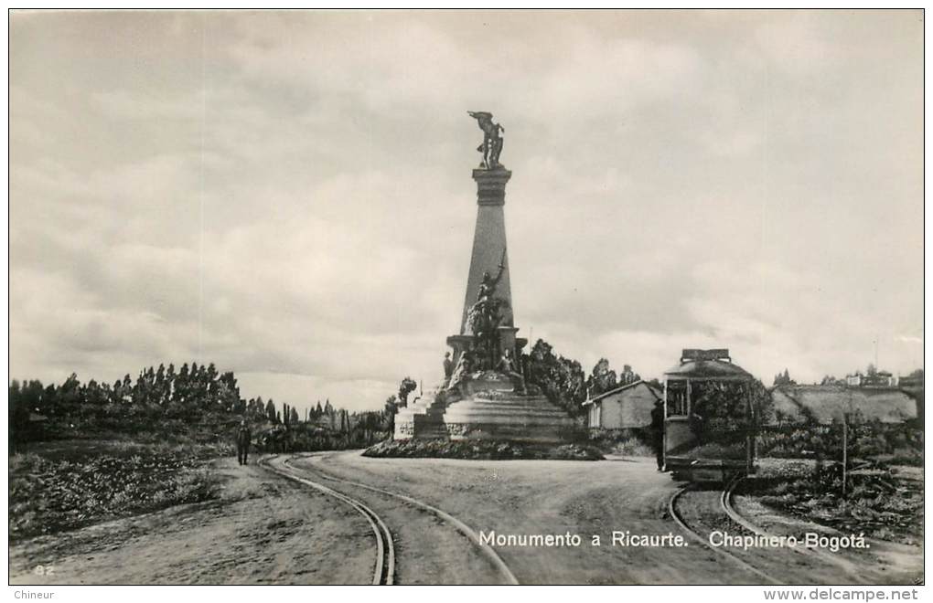
<instances>
[{"instance_id":1,"label":"part of dirt road right of the left curved tram track","mask_svg":"<svg viewBox=\"0 0 933 603\"><path fill-rule=\"evenodd\" d=\"M680 485L669 474L657 473L653 459L368 459L341 452L295 459L292 464L311 473L409 494L485 533L569 532L581 537L578 547L495 547L522 583L762 583L759 574L696 542L686 547L612 545L613 531L648 536L681 533L667 510ZM396 504L361 487L343 483L337 487L377 511ZM703 497L687 497L681 511L706 513L702 501ZM741 529L736 533L741 534ZM601 537L600 546L592 545L593 535ZM827 559L789 551L759 552L751 558L774 582L788 584L911 584L923 576L919 547L912 551L899 547L898 555L880 555L877 550L841 555L845 571ZM404 558L399 563L404 564ZM866 571L859 572L860 567Z\"/></svg>"}]
</instances>

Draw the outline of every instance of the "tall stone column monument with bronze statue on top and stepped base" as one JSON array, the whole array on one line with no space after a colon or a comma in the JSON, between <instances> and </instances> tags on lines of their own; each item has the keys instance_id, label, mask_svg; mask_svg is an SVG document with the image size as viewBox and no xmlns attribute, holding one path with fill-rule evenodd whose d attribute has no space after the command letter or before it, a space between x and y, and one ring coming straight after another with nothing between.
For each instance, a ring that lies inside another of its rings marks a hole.
<instances>
[{"instance_id":1,"label":"tall stone column monument with bronze statue on top and stepped base","mask_svg":"<svg viewBox=\"0 0 933 603\"><path fill-rule=\"evenodd\" d=\"M468 111L483 132L477 218L466 277L460 331L447 337L444 380L396 416L397 440L478 439L554 443L568 439L574 421L525 383L508 279L506 184L512 172L499 162L504 132L487 112Z\"/></svg>"}]
</instances>

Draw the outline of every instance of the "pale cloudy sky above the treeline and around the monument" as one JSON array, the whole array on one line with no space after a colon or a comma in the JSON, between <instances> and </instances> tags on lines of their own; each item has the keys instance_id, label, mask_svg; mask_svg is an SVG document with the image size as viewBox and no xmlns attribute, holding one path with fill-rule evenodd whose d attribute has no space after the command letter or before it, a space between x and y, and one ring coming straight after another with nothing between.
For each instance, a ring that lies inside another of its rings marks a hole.
<instances>
[{"instance_id":1,"label":"pale cloudy sky above the treeline and around the monument","mask_svg":"<svg viewBox=\"0 0 933 603\"><path fill-rule=\"evenodd\" d=\"M459 327L485 110L520 335L923 363L923 14L14 13L11 377L381 407Z\"/></svg>"}]
</instances>

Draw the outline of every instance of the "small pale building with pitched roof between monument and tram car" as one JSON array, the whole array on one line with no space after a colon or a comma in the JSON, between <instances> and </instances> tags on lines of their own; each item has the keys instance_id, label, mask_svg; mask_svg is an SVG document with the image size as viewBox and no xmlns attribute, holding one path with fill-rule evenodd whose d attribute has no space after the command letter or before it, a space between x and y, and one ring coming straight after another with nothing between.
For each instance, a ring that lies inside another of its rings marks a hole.
<instances>
[{"instance_id":1,"label":"small pale building with pitched roof between monument and tram car","mask_svg":"<svg viewBox=\"0 0 933 603\"><path fill-rule=\"evenodd\" d=\"M587 426L591 429L644 429L651 426L651 410L664 399L663 391L638 380L588 398Z\"/></svg>"}]
</instances>

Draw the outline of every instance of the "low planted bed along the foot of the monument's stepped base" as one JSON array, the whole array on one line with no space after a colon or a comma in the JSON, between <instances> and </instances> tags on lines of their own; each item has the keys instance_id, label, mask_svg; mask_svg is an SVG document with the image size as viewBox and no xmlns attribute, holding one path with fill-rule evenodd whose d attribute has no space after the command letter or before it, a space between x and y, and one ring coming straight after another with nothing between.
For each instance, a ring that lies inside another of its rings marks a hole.
<instances>
[{"instance_id":1,"label":"low planted bed along the foot of the monument's stepped base","mask_svg":"<svg viewBox=\"0 0 933 603\"><path fill-rule=\"evenodd\" d=\"M369 446L364 457L391 459L554 459L601 460L602 453L590 445L521 444L494 440L386 440Z\"/></svg>"}]
</instances>

